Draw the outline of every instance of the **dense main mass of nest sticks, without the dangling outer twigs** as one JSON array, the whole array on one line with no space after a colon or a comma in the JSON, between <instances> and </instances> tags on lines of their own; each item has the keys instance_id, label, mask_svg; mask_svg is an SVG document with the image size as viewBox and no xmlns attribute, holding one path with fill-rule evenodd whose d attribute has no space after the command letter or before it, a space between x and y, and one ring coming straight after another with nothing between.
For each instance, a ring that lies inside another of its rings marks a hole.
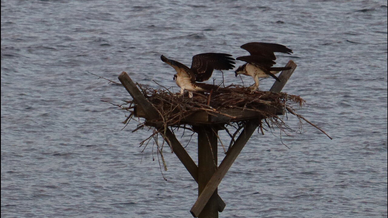
<instances>
[{"instance_id":1,"label":"dense main mass of nest sticks, without the dangling outer twigs","mask_svg":"<svg viewBox=\"0 0 388 218\"><path fill-rule=\"evenodd\" d=\"M248 88L236 85L220 87L210 93L196 92L193 98L187 97L187 94L177 95L168 89L153 89L144 85L139 85L139 87L144 96L159 112L160 118L152 121L162 122L165 126L180 126L184 123L181 122L182 120L199 111L213 116L217 114L227 116L231 121L226 122L226 124L233 123L233 119L236 118L224 112L230 109L254 111L262 118L277 117L274 110L267 108L284 109L291 104L301 107L305 102L296 95L264 91L251 93ZM133 104L131 101L129 103Z\"/></svg>"}]
</instances>

